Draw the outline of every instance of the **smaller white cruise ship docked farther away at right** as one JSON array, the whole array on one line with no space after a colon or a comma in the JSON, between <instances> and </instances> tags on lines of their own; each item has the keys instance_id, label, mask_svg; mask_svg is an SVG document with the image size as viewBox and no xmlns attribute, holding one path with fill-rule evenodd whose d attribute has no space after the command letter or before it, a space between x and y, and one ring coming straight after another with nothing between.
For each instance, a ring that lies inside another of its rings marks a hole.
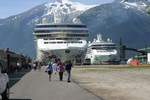
<instances>
[{"instance_id":1,"label":"smaller white cruise ship docked farther away at right","mask_svg":"<svg viewBox=\"0 0 150 100\"><path fill-rule=\"evenodd\" d=\"M86 58L91 59L91 64L111 64L117 57L117 46L112 40L102 40L101 34L97 34L97 39L89 42Z\"/></svg>"}]
</instances>

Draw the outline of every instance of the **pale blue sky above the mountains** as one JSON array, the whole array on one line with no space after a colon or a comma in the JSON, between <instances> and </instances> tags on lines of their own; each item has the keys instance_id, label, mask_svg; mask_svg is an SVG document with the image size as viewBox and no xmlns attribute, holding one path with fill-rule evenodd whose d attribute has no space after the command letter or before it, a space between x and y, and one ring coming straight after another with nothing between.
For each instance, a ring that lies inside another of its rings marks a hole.
<instances>
[{"instance_id":1,"label":"pale blue sky above the mountains","mask_svg":"<svg viewBox=\"0 0 150 100\"><path fill-rule=\"evenodd\" d=\"M50 2L53 3L57 0L3 0L0 3L0 18L7 18L9 16L17 15L28 11L29 9L40 4ZM69 0L72 2L79 2L85 5L101 5L111 3L114 0Z\"/></svg>"}]
</instances>

